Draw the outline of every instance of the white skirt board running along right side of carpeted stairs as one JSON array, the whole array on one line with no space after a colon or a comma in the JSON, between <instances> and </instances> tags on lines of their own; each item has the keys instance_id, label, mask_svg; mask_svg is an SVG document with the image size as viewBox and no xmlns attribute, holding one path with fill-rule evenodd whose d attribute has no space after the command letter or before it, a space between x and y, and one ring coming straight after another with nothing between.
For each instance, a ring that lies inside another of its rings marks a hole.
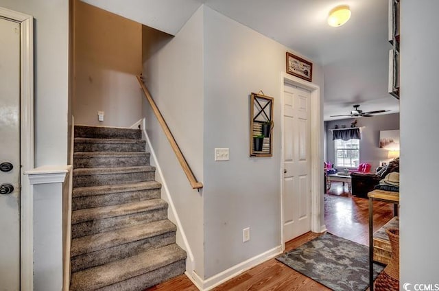
<instances>
[{"instance_id":1,"label":"white skirt board running along right side of carpeted stairs","mask_svg":"<svg viewBox=\"0 0 439 291\"><path fill-rule=\"evenodd\" d=\"M150 137L148 136L145 128L146 128L146 119L139 119L135 124L130 126L130 128L140 128L142 132L142 139L145 139L147 143L146 152L150 152L151 161L150 165L156 167L156 181L162 184L162 199L168 203L168 219L171 220L177 226L176 231L176 242L178 246L183 248L187 253L186 259L186 272L185 274L191 281L195 284L195 286L202 290L200 287L200 282L197 280L199 276L195 273L195 259L193 257L193 253L191 250L191 246L189 245L189 241L187 240L187 236L185 234L185 229L182 226L180 218L178 216L177 209L172 201L171 194L169 192L169 188L167 187L165 176L163 176L163 172L161 170L160 164L158 163L157 156L154 152L154 148L152 148L152 143ZM164 194L164 195L163 195Z\"/></svg>"}]
</instances>

